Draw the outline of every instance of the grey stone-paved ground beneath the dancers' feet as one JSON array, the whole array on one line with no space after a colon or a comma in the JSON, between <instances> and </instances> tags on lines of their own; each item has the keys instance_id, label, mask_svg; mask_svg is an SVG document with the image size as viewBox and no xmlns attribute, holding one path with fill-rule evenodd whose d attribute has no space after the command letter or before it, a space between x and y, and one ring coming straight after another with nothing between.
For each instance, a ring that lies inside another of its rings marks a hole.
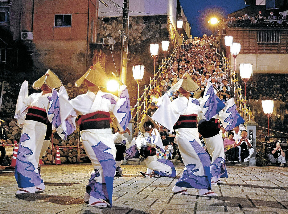
<instances>
[{"instance_id":1,"label":"grey stone-paved ground beneath the dancers' feet","mask_svg":"<svg viewBox=\"0 0 288 214\"><path fill-rule=\"evenodd\" d=\"M288 213L288 168L228 167L224 184L212 186L219 196L199 197L171 192L177 179L145 178L141 165L124 165L124 176L115 177L112 208L91 208L82 198L90 164L44 165L43 193L15 196L14 173L0 172L0 213ZM176 167L178 177L183 167Z\"/></svg>"}]
</instances>

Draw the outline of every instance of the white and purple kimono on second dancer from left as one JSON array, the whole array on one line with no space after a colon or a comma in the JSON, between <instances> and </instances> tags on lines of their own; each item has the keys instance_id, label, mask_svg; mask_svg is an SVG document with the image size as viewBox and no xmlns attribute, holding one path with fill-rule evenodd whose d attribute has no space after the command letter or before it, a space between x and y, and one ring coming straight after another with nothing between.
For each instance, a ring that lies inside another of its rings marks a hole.
<instances>
[{"instance_id":1,"label":"white and purple kimono on second dancer from left","mask_svg":"<svg viewBox=\"0 0 288 214\"><path fill-rule=\"evenodd\" d=\"M62 88L63 89L63 88ZM62 92L62 89L61 92ZM125 130L131 119L130 100L125 85L121 86L119 97L101 90L94 94L89 91L69 101L77 115L88 113L113 112L118 121L118 128ZM64 90L64 89L63 89ZM61 93L60 99L62 99ZM68 103L66 107L68 108ZM68 115L74 115L71 109ZM86 187L90 197L102 199L112 206L113 178L116 171L116 148L113 141L112 129L86 129L81 131L82 144L93 165L93 172Z\"/></svg>"}]
</instances>

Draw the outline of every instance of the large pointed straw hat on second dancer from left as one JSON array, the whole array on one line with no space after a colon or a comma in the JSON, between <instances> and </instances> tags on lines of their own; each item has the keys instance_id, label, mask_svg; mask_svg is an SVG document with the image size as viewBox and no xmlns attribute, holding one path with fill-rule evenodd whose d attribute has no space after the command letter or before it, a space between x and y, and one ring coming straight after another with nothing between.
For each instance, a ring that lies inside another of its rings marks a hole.
<instances>
[{"instance_id":1,"label":"large pointed straw hat on second dancer from left","mask_svg":"<svg viewBox=\"0 0 288 214\"><path fill-rule=\"evenodd\" d=\"M97 64L91 66L88 71L75 82L75 86L80 87L84 80L88 80L98 87L105 88L109 78L100 62L97 62Z\"/></svg>"}]
</instances>

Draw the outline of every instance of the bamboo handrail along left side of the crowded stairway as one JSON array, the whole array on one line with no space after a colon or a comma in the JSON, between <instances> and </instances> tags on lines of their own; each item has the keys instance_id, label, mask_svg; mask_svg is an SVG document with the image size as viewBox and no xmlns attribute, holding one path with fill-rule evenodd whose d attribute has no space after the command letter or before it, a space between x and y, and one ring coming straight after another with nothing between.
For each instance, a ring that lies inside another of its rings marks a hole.
<instances>
[{"instance_id":1,"label":"bamboo handrail along left side of the crowded stairway","mask_svg":"<svg viewBox=\"0 0 288 214\"><path fill-rule=\"evenodd\" d=\"M150 77L149 85L147 87L146 87L146 85L144 86L144 93L142 94L141 97L139 97L139 99L137 100L134 107L131 108L131 114L134 114L131 118L132 120L135 120L135 118L137 117L137 113L139 113L141 115L142 113L147 112L148 96L150 95L151 90L154 89L158 85L157 83L160 83L161 74L163 72L167 71L167 69L171 66L172 61L174 59L174 56L176 56L178 49L179 49L179 46L175 47L175 49L173 50L171 55L168 58L166 58L164 60L164 62L162 62L161 67L160 67L160 65L158 66L158 71L154 74L153 78L151 79L151 77ZM149 98L149 100L150 100L150 98ZM137 108L138 105L139 105L139 107ZM137 126L139 124L140 117L136 118L136 119L137 119L137 121L133 125L133 130L134 130L135 126Z\"/></svg>"}]
</instances>

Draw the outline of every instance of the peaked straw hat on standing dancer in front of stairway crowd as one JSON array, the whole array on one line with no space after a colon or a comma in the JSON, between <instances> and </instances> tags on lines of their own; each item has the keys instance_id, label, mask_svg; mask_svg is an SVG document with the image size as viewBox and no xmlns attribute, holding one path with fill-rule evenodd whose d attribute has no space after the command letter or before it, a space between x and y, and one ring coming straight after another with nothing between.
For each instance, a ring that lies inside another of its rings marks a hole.
<instances>
[{"instance_id":1,"label":"peaked straw hat on standing dancer in front of stairway crowd","mask_svg":"<svg viewBox=\"0 0 288 214\"><path fill-rule=\"evenodd\" d=\"M193 81L188 72L185 72L181 79L170 88L170 92L178 91L182 87L188 92L195 92L199 90L199 85Z\"/></svg>"}]
</instances>

